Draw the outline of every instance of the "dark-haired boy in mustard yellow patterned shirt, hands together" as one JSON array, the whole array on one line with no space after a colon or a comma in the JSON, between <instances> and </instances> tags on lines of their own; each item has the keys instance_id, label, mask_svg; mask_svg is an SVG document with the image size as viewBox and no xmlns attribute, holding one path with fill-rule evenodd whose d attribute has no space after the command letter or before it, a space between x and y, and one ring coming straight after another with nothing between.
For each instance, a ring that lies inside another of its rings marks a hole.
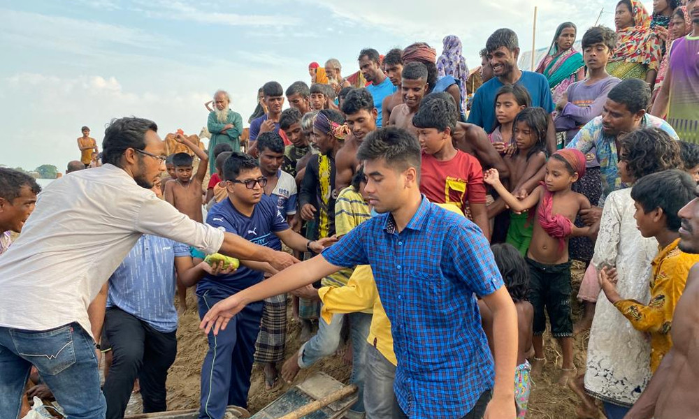
<instances>
[{"instance_id":1,"label":"dark-haired boy in mustard yellow patterned shirt, hands together","mask_svg":"<svg viewBox=\"0 0 699 419\"><path fill-rule=\"evenodd\" d=\"M656 372L663 356L672 348L670 328L677 300L682 296L691 267L699 255L679 249L682 219L677 212L695 198L696 182L682 170L665 170L647 175L633 185L631 198L636 208L634 218L643 237L658 240L658 256L652 262L651 300L643 304L624 300L614 285L615 270L607 267L599 281L607 299L624 314L633 328L647 332L651 338L651 372Z\"/></svg>"}]
</instances>

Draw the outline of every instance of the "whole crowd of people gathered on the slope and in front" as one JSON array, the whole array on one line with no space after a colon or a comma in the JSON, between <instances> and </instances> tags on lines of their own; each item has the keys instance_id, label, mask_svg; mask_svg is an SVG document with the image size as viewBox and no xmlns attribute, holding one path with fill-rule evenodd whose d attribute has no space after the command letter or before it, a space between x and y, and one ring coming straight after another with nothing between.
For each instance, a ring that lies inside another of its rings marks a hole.
<instances>
[{"instance_id":1,"label":"whole crowd of people gathered on the slope and in front","mask_svg":"<svg viewBox=\"0 0 699 419\"><path fill-rule=\"evenodd\" d=\"M216 91L208 147L126 117L43 191L0 168L0 416L123 418L134 385L165 411L195 288L202 419L247 407L255 362L271 390L343 341L349 419L524 418L547 329L579 418L696 417L698 3L621 0L580 52L565 22L536 71L498 29L470 98L449 35L267 82L249 128Z\"/></svg>"}]
</instances>

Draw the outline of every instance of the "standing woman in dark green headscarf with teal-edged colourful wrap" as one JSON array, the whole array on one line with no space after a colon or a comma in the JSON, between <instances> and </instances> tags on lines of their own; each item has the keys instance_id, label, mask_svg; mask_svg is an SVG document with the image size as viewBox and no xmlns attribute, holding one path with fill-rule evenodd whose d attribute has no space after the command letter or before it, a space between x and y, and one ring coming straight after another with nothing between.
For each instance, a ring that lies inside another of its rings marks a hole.
<instances>
[{"instance_id":1,"label":"standing woman in dark green headscarf with teal-edged colourful wrap","mask_svg":"<svg viewBox=\"0 0 699 419\"><path fill-rule=\"evenodd\" d=\"M573 44L577 36L577 27L572 22L565 22L556 29L551 47L536 68L537 73L545 75L558 103L570 84L585 78L585 61L582 54L575 50Z\"/></svg>"}]
</instances>

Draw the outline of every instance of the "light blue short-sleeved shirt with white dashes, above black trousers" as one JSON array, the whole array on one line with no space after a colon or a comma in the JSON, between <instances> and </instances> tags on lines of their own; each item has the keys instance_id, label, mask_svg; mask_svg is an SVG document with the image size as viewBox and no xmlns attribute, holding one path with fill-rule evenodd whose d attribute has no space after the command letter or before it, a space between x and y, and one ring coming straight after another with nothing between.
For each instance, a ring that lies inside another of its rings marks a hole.
<instances>
[{"instance_id":1,"label":"light blue short-sleeved shirt with white dashes, above black trousers","mask_svg":"<svg viewBox=\"0 0 699 419\"><path fill-rule=\"evenodd\" d=\"M189 246L143 235L109 278L107 307L119 307L163 333L177 329L175 258Z\"/></svg>"}]
</instances>

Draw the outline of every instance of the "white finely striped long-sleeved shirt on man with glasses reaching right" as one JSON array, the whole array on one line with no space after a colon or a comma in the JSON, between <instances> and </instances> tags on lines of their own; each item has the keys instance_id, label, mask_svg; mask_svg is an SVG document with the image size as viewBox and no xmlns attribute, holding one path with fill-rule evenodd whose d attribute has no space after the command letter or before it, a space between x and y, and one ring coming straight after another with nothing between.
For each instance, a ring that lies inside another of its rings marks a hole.
<instances>
[{"instance_id":1,"label":"white finely striped long-sleeved shirt on man with glasses reaching right","mask_svg":"<svg viewBox=\"0 0 699 419\"><path fill-rule=\"evenodd\" d=\"M224 239L110 164L51 182L0 258L0 326L49 330L77 322L91 333L87 306L143 234L205 253Z\"/></svg>"}]
</instances>

